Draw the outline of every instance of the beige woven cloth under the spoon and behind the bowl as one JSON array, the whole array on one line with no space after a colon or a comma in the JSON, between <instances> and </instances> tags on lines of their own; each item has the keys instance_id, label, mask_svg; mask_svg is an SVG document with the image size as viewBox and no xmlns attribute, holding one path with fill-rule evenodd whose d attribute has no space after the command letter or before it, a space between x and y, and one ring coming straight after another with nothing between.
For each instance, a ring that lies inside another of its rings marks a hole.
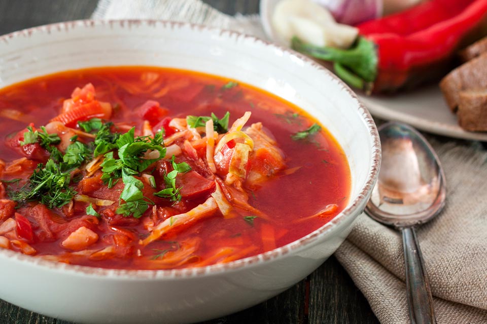
<instances>
[{"instance_id":1,"label":"beige woven cloth under the spoon and behind the bowl","mask_svg":"<svg viewBox=\"0 0 487 324\"><path fill-rule=\"evenodd\" d=\"M263 36L256 16L230 17L199 0L100 0L95 19L189 21ZM448 111L445 111L448 113ZM447 204L418 230L439 323L487 323L487 152L429 137L445 169ZM381 323L409 323L402 239L361 216L335 253Z\"/></svg>"}]
</instances>

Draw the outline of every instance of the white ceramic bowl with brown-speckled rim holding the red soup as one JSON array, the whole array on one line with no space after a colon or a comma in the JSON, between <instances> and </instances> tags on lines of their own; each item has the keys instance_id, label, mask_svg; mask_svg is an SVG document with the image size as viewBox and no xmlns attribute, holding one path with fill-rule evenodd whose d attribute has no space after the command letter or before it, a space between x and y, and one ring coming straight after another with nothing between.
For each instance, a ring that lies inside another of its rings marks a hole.
<instances>
[{"instance_id":1,"label":"white ceramic bowl with brown-speckled rim holding the red soup","mask_svg":"<svg viewBox=\"0 0 487 324\"><path fill-rule=\"evenodd\" d=\"M77 322L210 319L275 296L321 265L362 213L380 145L367 110L332 73L252 36L183 23L76 21L0 37L0 87L94 66L177 67L235 78L300 106L335 136L350 164L349 205L305 237L254 257L182 270L106 270L0 251L0 298Z\"/></svg>"}]
</instances>

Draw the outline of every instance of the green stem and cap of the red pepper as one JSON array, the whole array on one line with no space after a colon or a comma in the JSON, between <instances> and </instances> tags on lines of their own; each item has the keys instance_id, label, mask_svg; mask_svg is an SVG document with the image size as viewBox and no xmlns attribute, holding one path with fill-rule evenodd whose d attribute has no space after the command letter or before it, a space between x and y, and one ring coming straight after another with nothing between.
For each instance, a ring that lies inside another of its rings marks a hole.
<instances>
[{"instance_id":1,"label":"green stem and cap of the red pepper","mask_svg":"<svg viewBox=\"0 0 487 324\"><path fill-rule=\"evenodd\" d=\"M338 69L344 70L346 68L365 82L373 82L377 76L378 58L375 44L364 37L359 37L355 46L347 50L315 46L304 43L298 37L291 39L291 46L294 50L303 54L338 63ZM352 82L356 82L356 80Z\"/></svg>"}]
</instances>

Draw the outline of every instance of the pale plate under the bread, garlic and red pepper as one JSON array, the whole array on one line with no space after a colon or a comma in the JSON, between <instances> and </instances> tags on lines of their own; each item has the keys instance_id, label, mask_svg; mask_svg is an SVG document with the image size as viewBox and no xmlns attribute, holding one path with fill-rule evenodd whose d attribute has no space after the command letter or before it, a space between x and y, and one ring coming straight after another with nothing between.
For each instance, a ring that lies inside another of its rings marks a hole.
<instances>
[{"instance_id":1,"label":"pale plate under the bread, garlic and red pepper","mask_svg":"<svg viewBox=\"0 0 487 324\"><path fill-rule=\"evenodd\" d=\"M261 0L260 18L269 39L289 46L275 33L271 24L272 13L280 1ZM359 94L359 98L375 117L400 121L432 134L487 141L487 132L468 132L458 125L457 116L451 113L437 84L390 96Z\"/></svg>"}]
</instances>

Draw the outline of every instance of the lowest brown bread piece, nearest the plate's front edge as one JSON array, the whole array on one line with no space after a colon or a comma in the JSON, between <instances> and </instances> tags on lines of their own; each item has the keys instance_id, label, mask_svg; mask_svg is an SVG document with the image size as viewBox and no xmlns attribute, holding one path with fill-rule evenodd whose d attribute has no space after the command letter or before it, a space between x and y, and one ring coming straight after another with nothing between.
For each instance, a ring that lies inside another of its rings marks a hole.
<instances>
[{"instance_id":1,"label":"lowest brown bread piece, nearest the plate's front edge","mask_svg":"<svg viewBox=\"0 0 487 324\"><path fill-rule=\"evenodd\" d=\"M458 124L467 131L487 131L487 89L459 93Z\"/></svg>"}]
</instances>

